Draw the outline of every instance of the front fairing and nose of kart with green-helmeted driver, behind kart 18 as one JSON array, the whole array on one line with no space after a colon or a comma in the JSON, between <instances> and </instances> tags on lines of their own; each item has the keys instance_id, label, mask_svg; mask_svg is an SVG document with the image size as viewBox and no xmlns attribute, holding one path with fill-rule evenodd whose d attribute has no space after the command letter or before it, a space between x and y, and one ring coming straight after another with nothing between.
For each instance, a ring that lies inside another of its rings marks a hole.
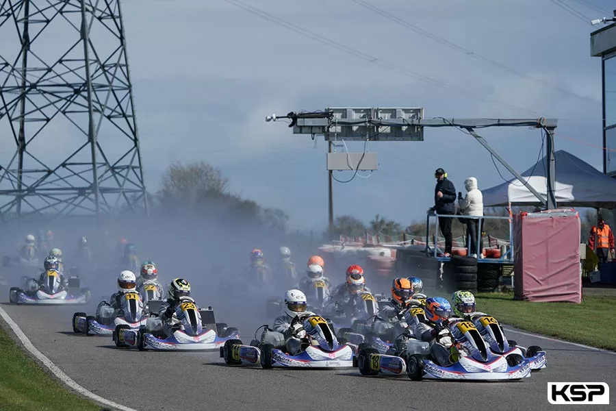
<instances>
[{"instance_id":1,"label":"front fairing and nose of kart with green-helmeted driver, behind kart 18","mask_svg":"<svg viewBox=\"0 0 616 411\"><path fill-rule=\"evenodd\" d=\"M501 356L509 356L511 353L516 353L522 356L526 362L530 363L530 369L537 371L546 368L548 359L546 351L537 345L531 345L528 348L517 345L514 340L505 338L502 327L491 316L477 316L472 319L472 323L478 329L479 333L490 347L493 353Z\"/></svg>"}]
</instances>

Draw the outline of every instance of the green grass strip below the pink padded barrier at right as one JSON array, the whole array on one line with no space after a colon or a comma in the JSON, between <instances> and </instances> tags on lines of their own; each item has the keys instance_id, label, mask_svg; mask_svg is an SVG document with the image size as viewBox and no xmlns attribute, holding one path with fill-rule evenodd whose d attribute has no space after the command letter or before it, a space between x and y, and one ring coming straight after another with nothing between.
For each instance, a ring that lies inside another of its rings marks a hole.
<instances>
[{"instance_id":1,"label":"green grass strip below the pink padded barrier at right","mask_svg":"<svg viewBox=\"0 0 616 411\"><path fill-rule=\"evenodd\" d=\"M615 297L584 297L581 304L513 301L513 294L480 293L477 310L530 332L616 351L611 329Z\"/></svg>"}]
</instances>

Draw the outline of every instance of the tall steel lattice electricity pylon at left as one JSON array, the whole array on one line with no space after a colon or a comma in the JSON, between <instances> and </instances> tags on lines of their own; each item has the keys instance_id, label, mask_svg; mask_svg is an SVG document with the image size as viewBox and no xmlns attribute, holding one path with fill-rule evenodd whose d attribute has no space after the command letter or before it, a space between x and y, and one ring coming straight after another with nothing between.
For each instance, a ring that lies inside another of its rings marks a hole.
<instances>
[{"instance_id":1,"label":"tall steel lattice electricity pylon at left","mask_svg":"<svg viewBox=\"0 0 616 411\"><path fill-rule=\"evenodd\" d=\"M147 213L119 0L0 0L0 104L3 221Z\"/></svg>"}]
</instances>

